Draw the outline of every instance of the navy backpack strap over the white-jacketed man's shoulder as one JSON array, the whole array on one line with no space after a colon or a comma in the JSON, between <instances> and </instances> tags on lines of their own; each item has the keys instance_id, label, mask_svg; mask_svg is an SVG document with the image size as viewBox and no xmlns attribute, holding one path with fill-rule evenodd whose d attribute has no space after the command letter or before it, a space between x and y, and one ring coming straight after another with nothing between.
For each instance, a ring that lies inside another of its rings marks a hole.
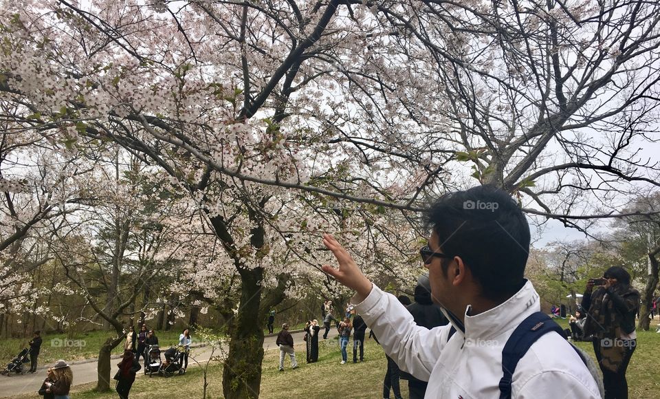
<instances>
[{"instance_id":1,"label":"navy backpack strap over the white-jacketed man's shoulder","mask_svg":"<svg viewBox=\"0 0 660 399\"><path fill-rule=\"evenodd\" d=\"M535 343L538 338L544 336L548 332L556 332L566 338L564 330L557 323L552 321L547 314L536 312L527 316L523 320L514 333L511 334L509 340L502 349L502 371L503 376L500 379L500 399L511 398L511 379L514 376L514 371L518 365L518 361L525 356L527 349ZM582 355L580 355L582 358ZM584 359L582 359L584 360Z\"/></svg>"}]
</instances>

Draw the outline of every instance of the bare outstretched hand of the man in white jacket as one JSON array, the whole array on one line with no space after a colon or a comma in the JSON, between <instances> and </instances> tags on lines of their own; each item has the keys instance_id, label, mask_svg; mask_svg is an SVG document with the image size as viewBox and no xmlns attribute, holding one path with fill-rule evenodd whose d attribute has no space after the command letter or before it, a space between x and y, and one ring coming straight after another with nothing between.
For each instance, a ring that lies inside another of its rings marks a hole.
<instances>
[{"instance_id":1,"label":"bare outstretched hand of the man in white jacket","mask_svg":"<svg viewBox=\"0 0 660 399\"><path fill-rule=\"evenodd\" d=\"M371 281L362 274L349 252L337 242L335 237L324 234L323 244L332 251L332 255L335 255L337 263L339 263L339 268L336 269L332 266L323 265L322 270L343 285L351 288L351 290L355 290L357 293L355 295L355 301L364 301L366 296L369 295L369 292L371 292Z\"/></svg>"}]
</instances>

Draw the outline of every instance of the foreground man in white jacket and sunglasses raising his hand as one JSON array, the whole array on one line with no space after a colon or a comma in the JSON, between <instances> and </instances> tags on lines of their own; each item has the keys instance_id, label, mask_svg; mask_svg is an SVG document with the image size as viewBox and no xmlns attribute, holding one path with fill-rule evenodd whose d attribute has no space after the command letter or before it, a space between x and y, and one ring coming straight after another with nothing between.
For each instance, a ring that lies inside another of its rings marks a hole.
<instances>
[{"instance_id":1,"label":"foreground man in white jacket and sunglasses raising his hand","mask_svg":"<svg viewBox=\"0 0 660 399\"><path fill-rule=\"evenodd\" d=\"M508 370L511 378L503 378L505 344L520 323L540 311L538 294L523 278L529 226L518 204L498 188L478 186L444 195L430 206L427 220L431 234L420 254L432 300L450 320L432 330L417 326L333 236L323 236L339 264L323 270L355 290L351 303L386 354L402 370L428 380L425 397L600 398L580 356L554 332L536 339Z\"/></svg>"}]
</instances>

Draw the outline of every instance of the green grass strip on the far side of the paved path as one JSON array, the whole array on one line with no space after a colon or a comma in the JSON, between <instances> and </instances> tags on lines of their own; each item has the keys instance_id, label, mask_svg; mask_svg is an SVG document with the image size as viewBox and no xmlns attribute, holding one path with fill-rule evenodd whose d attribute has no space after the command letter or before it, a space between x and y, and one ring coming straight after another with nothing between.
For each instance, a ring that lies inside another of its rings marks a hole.
<instances>
[{"instance_id":1,"label":"green grass strip on the far side of the paved path","mask_svg":"<svg viewBox=\"0 0 660 399\"><path fill-rule=\"evenodd\" d=\"M158 341L161 345L174 345L179 341L179 332L163 331L157 332ZM58 359L80 360L85 358L98 357L98 350L105 340L110 336L110 332L86 332L67 336L67 334L45 334L42 336L43 343L39 352L39 364L55 363ZM192 337L193 342L195 336ZM32 339L32 337L30 337ZM6 338L0 341L0 359L9 363L14 356L21 352L23 347L28 346L30 339ZM120 343L113 350L113 354L122 354L124 352L124 343Z\"/></svg>"}]
</instances>

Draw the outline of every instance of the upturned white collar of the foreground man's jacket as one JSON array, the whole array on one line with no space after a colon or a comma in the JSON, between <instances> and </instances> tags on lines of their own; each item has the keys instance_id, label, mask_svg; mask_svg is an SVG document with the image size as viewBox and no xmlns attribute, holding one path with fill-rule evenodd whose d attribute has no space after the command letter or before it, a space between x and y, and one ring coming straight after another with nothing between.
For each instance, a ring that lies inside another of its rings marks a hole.
<instances>
[{"instance_id":1,"label":"upturned white collar of the foreground man's jacket","mask_svg":"<svg viewBox=\"0 0 660 399\"><path fill-rule=\"evenodd\" d=\"M529 280L516 294L495 308L469 316L470 306L465 308L465 325L461 325L460 321L446 310L445 315L456 331L463 332L466 338L475 339L489 339L507 330L513 330L527 316L541 309L538 294Z\"/></svg>"}]
</instances>

